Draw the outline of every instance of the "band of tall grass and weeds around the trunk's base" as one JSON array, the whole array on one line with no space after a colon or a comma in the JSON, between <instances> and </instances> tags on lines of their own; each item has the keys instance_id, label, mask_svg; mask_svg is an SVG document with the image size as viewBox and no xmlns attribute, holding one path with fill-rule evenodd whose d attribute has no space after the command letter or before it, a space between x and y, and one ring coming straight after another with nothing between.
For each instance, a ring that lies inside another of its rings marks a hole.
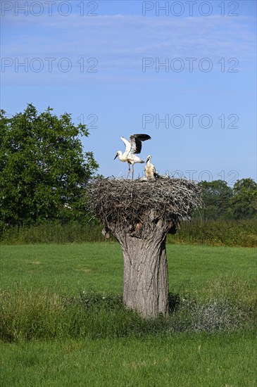
<instances>
[{"instance_id":1,"label":"band of tall grass and weeds around the trunk's base","mask_svg":"<svg viewBox=\"0 0 257 387\"><path fill-rule=\"evenodd\" d=\"M238 289L240 291L240 289ZM123 297L81 291L77 297L49 291L1 291L0 338L6 342L56 338L118 338L252 329L256 326L256 300L232 298L196 300L169 294L168 317L144 319L127 310Z\"/></svg>"}]
</instances>

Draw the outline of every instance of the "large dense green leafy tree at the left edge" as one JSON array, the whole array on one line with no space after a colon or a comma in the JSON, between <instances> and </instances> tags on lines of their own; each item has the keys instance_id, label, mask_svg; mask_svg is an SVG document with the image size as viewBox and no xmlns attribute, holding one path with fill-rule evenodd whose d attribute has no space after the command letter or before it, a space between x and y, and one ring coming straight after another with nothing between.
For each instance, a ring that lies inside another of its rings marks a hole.
<instances>
[{"instance_id":1,"label":"large dense green leafy tree at the left edge","mask_svg":"<svg viewBox=\"0 0 257 387\"><path fill-rule=\"evenodd\" d=\"M83 152L84 125L73 125L70 114L58 118L48 108L37 113L29 104L23 113L0 122L1 227L63 219L80 211L80 195L98 164Z\"/></svg>"}]
</instances>

